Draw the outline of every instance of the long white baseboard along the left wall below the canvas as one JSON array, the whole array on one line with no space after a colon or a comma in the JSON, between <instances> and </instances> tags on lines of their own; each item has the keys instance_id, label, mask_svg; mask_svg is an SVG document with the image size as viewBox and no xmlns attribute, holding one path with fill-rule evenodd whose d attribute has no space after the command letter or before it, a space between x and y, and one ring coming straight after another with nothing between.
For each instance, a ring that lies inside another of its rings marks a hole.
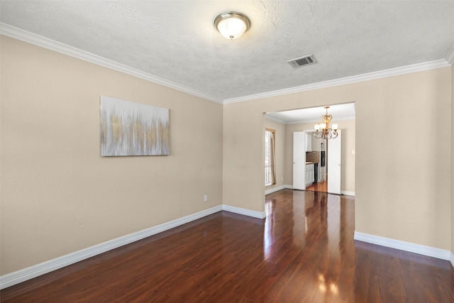
<instances>
[{"instance_id":1,"label":"long white baseboard along the left wall below the canvas","mask_svg":"<svg viewBox=\"0 0 454 303\"><path fill-rule=\"evenodd\" d=\"M62 257L48 260L37 265L33 265L29 268L24 268L16 272L11 272L9 274L2 275L0 277L0 290L24 282L26 280L33 279L33 277L44 275L53 270L64 268L67 265L71 265L79 261L91 258L94 255L105 253L108 250L112 250L114 248L118 248L120 246L133 243L143 238L153 236L156 233L167 231L170 228L175 228L182 224L187 224L191 221L203 218L204 216L209 216L210 214L214 214L221 210L223 210L222 205L214 206L211 209L205 209L204 211L199 211L196 214L190 214L189 216L184 216L182 218L175 219L164 224L144 229L143 231L131 233L129 235L122 236L111 241L106 241L104 243L100 243L95 246L76 251L74 253L69 253L67 255L63 255ZM247 211L245 211L245 215L247 215Z\"/></svg>"}]
</instances>

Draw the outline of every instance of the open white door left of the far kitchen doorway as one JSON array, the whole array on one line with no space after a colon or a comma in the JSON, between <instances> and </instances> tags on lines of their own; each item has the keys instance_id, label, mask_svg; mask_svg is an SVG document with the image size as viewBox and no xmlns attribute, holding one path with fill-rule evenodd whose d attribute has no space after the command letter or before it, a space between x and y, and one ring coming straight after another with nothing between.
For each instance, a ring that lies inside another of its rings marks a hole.
<instances>
[{"instance_id":1,"label":"open white door left of the far kitchen doorway","mask_svg":"<svg viewBox=\"0 0 454 303\"><path fill-rule=\"evenodd\" d=\"M306 132L293 132L293 189L306 189Z\"/></svg>"}]
</instances>

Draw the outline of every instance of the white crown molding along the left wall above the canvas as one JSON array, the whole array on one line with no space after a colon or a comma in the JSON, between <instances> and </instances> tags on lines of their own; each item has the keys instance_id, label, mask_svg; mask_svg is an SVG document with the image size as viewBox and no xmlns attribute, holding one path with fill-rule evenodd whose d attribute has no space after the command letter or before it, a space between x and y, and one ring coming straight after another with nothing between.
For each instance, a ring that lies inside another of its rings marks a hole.
<instances>
[{"instance_id":1,"label":"white crown molding along the left wall above the canvas","mask_svg":"<svg viewBox=\"0 0 454 303\"><path fill-rule=\"evenodd\" d=\"M165 87L170 87L170 88L176 89L180 92L185 92L187 94L192 94L193 96L196 96L196 97L201 97L201 98L207 99L209 101L214 101L218 104L223 104L222 99L216 98L209 94L204 94L204 93L196 91L194 89L190 89L189 87L185 87L184 85L180 85L175 82L171 82L166 79L162 79L160 77L150 75L146 72L136 70L133 67L128 67L126 65L106 59L104 57L100 57L98 55L88 53L84 50L79 50L78 48L73 48L70 45L66 45L64 43L60 43L60 42L57 42L57 41L49 39L49 38L45 38L41 35L36 35L35 33L24 31L21 28L16 28L15 26L10 26L9 24L6 24L6 23L0 23L0 34L6 35L8 37L11 37L11 38L14 38L17 40L24 41L26 43L31 43L33 45L40 46L41 48L47 48L48 50L54 50L57 53L69 55L71 57L75 57L80 60L94 63L96 65L101 65L101 66L107 67L111 70L123 72L125 74L131 75L134 77L138 77L140 79L145 79L150 82L163 85Z\"/></svg>"}]
</instances>

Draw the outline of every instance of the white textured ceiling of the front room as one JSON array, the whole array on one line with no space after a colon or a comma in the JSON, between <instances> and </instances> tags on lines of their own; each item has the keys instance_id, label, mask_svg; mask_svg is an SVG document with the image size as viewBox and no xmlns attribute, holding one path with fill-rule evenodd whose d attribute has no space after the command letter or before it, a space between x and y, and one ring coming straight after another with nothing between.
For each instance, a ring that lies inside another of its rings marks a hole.
<instances>
[{"instance_id":1,"label":"white textured ceiling of the front room","mask_svg":"<svg viewBox=\"0 0 454 303\"><path fill-rule=\"evenodd\" d=\"M1 22L218 100L443 60L454 1L0 1ZM251 27L223 38L214 18ZM287 60L314 54L298 69Z\"/></svg>"}]
</instances>

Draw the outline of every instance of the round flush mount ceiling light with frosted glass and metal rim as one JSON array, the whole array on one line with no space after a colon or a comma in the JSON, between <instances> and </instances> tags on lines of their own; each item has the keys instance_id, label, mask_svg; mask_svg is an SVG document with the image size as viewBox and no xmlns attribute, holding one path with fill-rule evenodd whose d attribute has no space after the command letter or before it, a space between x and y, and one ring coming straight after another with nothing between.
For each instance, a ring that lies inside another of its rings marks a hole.
<instances>
[{"instance_id":1,"label":"round flush mount ceiling light with frosted glass and metal rim","mask_svg":"<svg viewBox=\"0 0 454 303\"><path fill-rule=\"evenodd\" d=\"M226 13L221 13L221 15L214 19L214 26L216 26L221 35L227 39L233 40L239 38L245 31L248 31L250 21L248 16L244 13L228 11Z\"/></svg>"}]
</instances>

